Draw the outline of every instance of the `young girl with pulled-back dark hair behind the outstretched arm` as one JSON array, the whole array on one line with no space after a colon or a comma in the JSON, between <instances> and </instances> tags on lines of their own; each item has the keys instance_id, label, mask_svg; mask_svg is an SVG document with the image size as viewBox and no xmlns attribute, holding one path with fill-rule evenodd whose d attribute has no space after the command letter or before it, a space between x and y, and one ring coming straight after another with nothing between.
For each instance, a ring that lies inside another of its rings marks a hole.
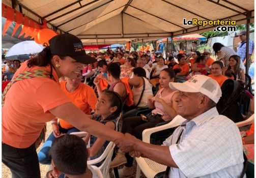
<instances>
[{"instance_id":1,"label":"young girl with pulled-back dark hair behind the outstretched arm","mask_svg":"<svg viewBox=\"0 0 256 178\"><path fill-rule=\"evenodd\" d=\"M122 111L122 99L120 95L112 91L104 91L98 98L95 113L98 114L95 121L101 122L107 127L115 130L117 118ZM90 138L90 159L96 159L105 151L109 141L97 138L93 135L87 135L86 143ZM100 164L100 163L98 163ZM97 166L97 165L96 165Z\"/></svg>"}]
</instances>

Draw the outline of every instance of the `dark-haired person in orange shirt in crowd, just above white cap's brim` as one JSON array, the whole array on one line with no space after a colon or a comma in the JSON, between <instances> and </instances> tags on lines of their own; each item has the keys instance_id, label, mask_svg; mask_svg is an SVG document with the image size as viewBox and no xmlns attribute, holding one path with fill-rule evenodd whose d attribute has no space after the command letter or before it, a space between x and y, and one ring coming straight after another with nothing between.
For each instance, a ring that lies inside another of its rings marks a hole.
<instances>
[{"instance_id":1,"label":"dark-haired person in orange shirt in crowd, just above white cap's brim","mask_svg":"<svg viewBox=\"0 0 256 178\"><path fill-rule=\"evenodd\" d=\"M173 69L176 74L176 79L177 80L185 80L186 76L188 75L189 72L189 66L185 61L185 56L182 54L178 54L178 62L179 64L176 64Z\"/></svg>"}]
</instances>

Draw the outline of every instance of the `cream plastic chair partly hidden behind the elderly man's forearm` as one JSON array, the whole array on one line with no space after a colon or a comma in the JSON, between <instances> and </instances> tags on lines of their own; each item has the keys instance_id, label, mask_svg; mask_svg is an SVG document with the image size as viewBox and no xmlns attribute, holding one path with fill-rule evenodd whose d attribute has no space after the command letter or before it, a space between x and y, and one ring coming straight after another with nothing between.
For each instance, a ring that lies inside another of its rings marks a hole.
<instances>
[{"instance_id":1,"label":"cream plastic chair partly hidden behind the elderly man's forearm","mask_svg":"<svg viewBox=\"0 0 256 178\"><path fill-rule=\"evenodd\" d=\"M150 128L150 129L145 129L142 133L142 139L144 142L150 143L150 135L152 133L177 127L184 121L186 121L185 118L183 118L180 115L177 115L168 124ZM165 171L167 167L165 165L152 161L148 158L142 158L142 157L136 158L136 162L137 162L136 178L140 177L140 170L145 174L146 177L153 178L157 173Z\"/></svg>"}]
</instances>

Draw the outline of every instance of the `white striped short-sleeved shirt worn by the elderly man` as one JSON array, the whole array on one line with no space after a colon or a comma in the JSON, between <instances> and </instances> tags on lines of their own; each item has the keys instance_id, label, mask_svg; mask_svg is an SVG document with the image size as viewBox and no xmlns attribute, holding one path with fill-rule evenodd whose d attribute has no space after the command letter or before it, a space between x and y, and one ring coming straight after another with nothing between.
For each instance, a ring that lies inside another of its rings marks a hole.
<instances>
[{"instance_id":1,"label":"white striped short-sleeved shirt worn by the elderly man","mask_svg":"<svg viewBox=\"0 0 256 178\"><path fill-rule=\"evenodd\" d=\"M180 143L176 144L182 132ZM164 145L179 168L171 167L169 177L240 177L243 145L238 127L219 115L216 107L185 121Z\"/></svg>"}]
</instances>

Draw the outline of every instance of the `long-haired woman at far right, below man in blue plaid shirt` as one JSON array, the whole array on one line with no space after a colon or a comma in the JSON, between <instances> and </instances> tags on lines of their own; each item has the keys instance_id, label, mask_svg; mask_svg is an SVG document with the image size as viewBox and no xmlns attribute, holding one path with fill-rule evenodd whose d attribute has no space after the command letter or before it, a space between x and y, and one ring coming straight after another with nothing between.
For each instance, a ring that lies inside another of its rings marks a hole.
<instances>
[{"instance_id":1,"label":"long-haired woman at far right, below man in blue plaid shirt","mask_svg":"<svg viewBox=\"0 0 256 178\"><path fill-rule=\"evenodd\" d=\"M244 70L240 68L240 57L239 55L232 55L229 58L229 67L227 67L227 70L232 70L234 74L236 75L236 80L241 81L242 83L245 83L245 74Z\"/></svg>"}]
</instances>

